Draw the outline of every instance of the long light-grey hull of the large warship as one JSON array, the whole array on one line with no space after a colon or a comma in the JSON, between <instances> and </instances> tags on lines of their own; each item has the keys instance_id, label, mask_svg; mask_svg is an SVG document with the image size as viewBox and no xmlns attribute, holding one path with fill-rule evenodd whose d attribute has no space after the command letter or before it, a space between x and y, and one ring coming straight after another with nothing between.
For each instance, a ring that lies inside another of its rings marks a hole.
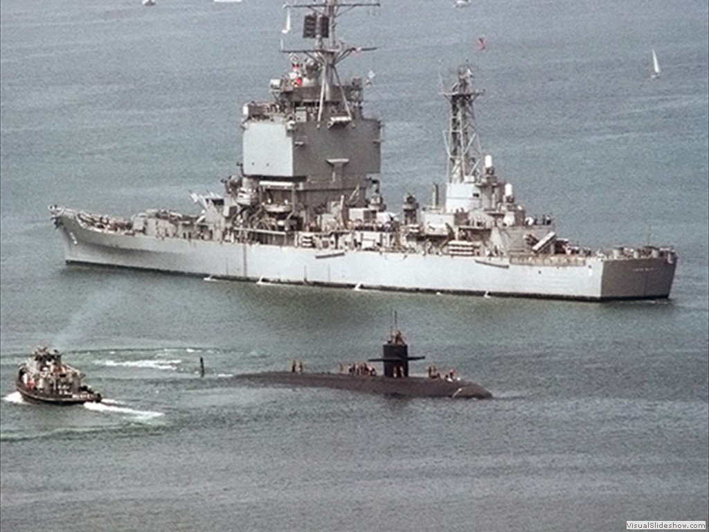
<instances>
[{"instance_id":1,"label":"long light-grey hull of the large warship","mask_svg":"<svg viewBox=\"0 0 709 532\"><path fill-rule=\"evenodd\" d=\"M615 254L469 257L197 240L108 231L73 211L55 218L67 263L413 292L607 301L669 297L676 256Z\"/></svg>"}]
</instances>

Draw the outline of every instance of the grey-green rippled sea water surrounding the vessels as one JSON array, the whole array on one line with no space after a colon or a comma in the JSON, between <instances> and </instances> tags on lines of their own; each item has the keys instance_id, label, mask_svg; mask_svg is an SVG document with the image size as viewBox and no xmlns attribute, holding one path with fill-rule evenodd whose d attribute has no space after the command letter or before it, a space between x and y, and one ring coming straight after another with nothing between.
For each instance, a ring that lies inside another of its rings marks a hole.
<instances>
[{"instance_id":1,"label":"grey-green rippled sea water surrounding the vessels","mask_svg":"<svg viewBox=\"0 0 709 532\"><path fill-rule=\"evenodd\" d=\"M385 1L376 45L396 210L445 176L441 79L468 61L515 196L597 247L674 245L669 301L585 304L205 282L69 267L46 206L191 211L240 161L241 105L287 68L281 2L0 4L0 528L609 531L707 520L709 40L705 1ZM294 13L295 15L296 13ZM299 48L298 24L285 37ZM488 48L476 49L484 36ZM650 50L662 76L650 79ZM245 372L413 354L491 401L252 387ZM66 353L104 404L23 403ZM199 358L206 375L199 377Z\"/></svg>"}]
</instances>

